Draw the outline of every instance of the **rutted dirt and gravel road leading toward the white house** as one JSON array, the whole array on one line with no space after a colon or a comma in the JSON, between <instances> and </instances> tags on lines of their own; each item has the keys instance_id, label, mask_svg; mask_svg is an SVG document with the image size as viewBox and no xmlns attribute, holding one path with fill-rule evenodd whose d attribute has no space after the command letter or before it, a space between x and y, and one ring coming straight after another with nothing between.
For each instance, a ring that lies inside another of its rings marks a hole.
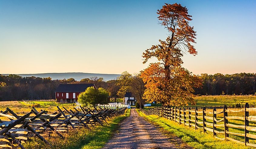
<instances>
[{"instance_id":1,"label":"rutted dirt and gravel road leading toward the white house","mask_svg":"<svg viewBox=\"0 0 256 149\"><path fill-rule=\"evenodd\" d=\"M116 134L103 149L181 149L191 148L180 138L164 135L159 128L131 109L131 116L120 124Z\"/></svg>"}]
</instances>

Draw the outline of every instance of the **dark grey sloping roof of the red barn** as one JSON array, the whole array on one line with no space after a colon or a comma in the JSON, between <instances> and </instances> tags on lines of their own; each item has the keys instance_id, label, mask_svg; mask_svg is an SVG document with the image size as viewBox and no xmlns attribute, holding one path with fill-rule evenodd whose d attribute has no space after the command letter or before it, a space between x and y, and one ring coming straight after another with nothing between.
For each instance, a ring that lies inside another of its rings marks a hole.
<instances>
[{"instance_id":1,"label":"dark grey sloping roof of the red barn","mask_svg":"<svg viewBox=\"0 0 256 149\"><path fill-rule=\"evenodd\" d=\"M55 92L84 92L88 87L94 84L60 84Z\"/></svg>"}]
</instances>

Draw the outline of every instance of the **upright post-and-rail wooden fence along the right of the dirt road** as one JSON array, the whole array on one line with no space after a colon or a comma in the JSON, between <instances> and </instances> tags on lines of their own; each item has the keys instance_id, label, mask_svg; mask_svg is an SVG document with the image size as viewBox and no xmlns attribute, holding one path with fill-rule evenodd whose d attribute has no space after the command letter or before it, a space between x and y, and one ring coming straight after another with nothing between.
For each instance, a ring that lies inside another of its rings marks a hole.
<instances>
[{"instance_id":1,"label":"upright post-and-rail wooden fence along the right of the dirt road","mask_svg":"<svg viewBox=\"0 0 256 149\"><path fill-rule=\"evenodd\" d=\"M249 108L248 103L245 104L243 109L238 111L228 110L227 106L224 105L223 110L218 109L218 111L216 107L213 109L202 107L201 110L198 110L198 108L191 109L190 107L186 109L183 107L162 106L142 110L142 112L146 115L158 115L203 132L210 131L215 138L221 140L229 140L246 146L256 147L256 144L249 143L250 140L256 139L256 116L249 115L249 112L255 113L256 108ZM243 116L228 116L235 113L242 113ZM238 120L240 124L235 124L232 120ZM232 122L230 123L229 121ZM238 129L240 133L231 132L229 128ZM223 135L223 138L219 137ZM229 135L242 137L244 141L234 139L235 137L230 138Z\"/></svg>"}]
</instances>

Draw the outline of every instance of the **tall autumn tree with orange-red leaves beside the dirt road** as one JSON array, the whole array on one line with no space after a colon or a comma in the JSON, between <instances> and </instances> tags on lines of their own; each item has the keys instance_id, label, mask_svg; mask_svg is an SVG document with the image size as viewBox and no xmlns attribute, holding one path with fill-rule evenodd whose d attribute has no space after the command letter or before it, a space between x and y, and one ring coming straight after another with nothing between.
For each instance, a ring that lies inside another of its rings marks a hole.
<instances>
[{"instance_id":1,"label":"tall autumn tree with orange-red leaves beside the dirt road","mask_svg":"<svg viewBox=\"0 0 256 149\"><path fill-rule=\"evenodd\" d=\"M141 72L146 83L144 98L148 101L157 101L166 105L194 104L193 87L201 85L197 76L182 68L183 53L196 55L197 51L191 43L196 43L196 32L189 25L191 15L188 9L180 4L165 4L157 14L160 24L164 26L169 36L166 41L159 40L160 44L147 49L142 57L146 63L150 58L157 58L157 63L150 63L149 67Z\"/></svg>"}]
</instances>

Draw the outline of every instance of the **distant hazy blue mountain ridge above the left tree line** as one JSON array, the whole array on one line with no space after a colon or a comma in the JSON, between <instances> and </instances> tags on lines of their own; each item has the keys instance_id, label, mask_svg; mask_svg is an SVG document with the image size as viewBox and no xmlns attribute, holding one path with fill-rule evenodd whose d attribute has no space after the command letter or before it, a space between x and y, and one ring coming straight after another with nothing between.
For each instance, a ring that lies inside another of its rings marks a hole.
<instances>
[{"instance_id":1,"label":"distant hazy blue mountain ridge above the left tree line","mask_svg":"<svg viewBox=\"0 0 256 149\"><path fill-rule=\"evenodd\" d=\"M2 75L9 75L9 74L2 74ZM90 78L90 77L102 77L105 81L116 79L118 76L121 76L120 74L101 74L101 73L37 73L37 74L17 74L22 77L40 77L40 78L47 78L51 77L53 80L56 79L68 79L68 78L74 78L77 81L80 81L84 78Z\"/></svg>"}]
</instances>

